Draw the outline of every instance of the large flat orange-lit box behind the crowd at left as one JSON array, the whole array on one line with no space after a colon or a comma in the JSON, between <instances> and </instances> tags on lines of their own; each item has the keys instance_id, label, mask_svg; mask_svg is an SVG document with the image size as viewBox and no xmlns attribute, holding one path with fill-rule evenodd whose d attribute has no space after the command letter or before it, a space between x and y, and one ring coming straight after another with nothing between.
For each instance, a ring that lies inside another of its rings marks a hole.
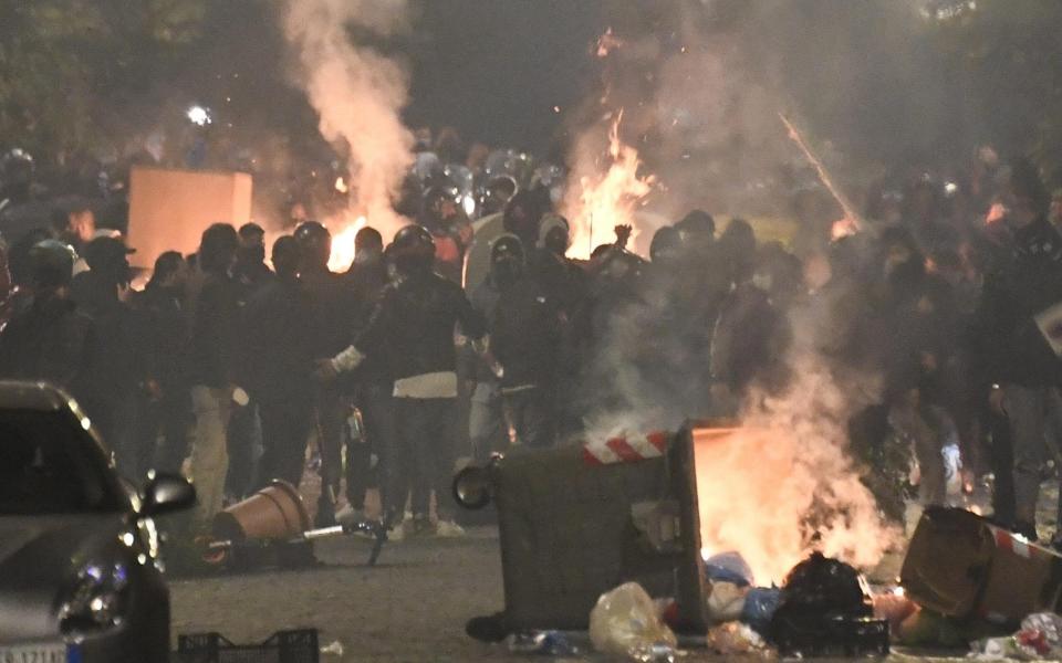
<instances>
[{"instance_id":1,"label":"large flat orange-lit box behind the crowd at left","mask_svg":"<svg viewBox=\"0 0 1062 663\"><path fill-rule=\"evenodd\" d=\"M165 251L194 253L211 223L251 219L251 176L135 167L129 176L131 262L150 269Z\"/></svg>"}]
</instances>

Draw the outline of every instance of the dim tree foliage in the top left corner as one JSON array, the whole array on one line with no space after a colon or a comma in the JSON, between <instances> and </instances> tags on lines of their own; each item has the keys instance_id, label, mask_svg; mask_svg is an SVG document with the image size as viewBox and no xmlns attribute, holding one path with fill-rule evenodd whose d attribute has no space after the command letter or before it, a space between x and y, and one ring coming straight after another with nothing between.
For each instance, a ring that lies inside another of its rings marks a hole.
<instances>
[{"instance_id":1,"label":"dim tree foliage in the top left corner","mask_svg":"<svg viewBox=\"0 0 1062 663\"><path fill-rule=\"evenodd\" d=\"M157 88L196 45L206 7L0 0L0 145L56 155L105 143L121 106Z\"/></svg>"}]
</instances>

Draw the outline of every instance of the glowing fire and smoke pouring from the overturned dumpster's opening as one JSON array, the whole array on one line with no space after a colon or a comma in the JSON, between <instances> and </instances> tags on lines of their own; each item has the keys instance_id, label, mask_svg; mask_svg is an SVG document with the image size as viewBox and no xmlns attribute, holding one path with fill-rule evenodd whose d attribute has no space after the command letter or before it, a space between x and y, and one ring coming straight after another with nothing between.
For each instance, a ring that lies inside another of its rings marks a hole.
<instances>
[{"instance_id":1,"label":"glowing fire and smoke pouring from the overturned dumpster's opening","mask_svg":"<svg viewBox=\"0 0 1062 663\"><path fill-rule=\"evenodd\" d=\"M873 568L899 540L847 453L847 422L877 380L839 372L810 347L811 309L792 317L788 388L751 393L741 428L695 435L705 552L740 551L761 583L813 550Z\"/></svg>"}]
</instances>

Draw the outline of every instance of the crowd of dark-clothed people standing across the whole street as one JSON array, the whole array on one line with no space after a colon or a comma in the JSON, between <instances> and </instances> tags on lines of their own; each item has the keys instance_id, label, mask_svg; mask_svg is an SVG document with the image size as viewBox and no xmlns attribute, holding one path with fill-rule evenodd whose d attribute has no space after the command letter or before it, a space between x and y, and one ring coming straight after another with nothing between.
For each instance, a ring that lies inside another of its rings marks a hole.
<instances>
[{"instance_id":1,"label":"crowd of dark-clothed people standing across the whole street","mask_svg":"<svg viewBox=\"0 0 1062 663\"><path fill-rule=\"evenodd\" d=\"M389 242L361 229L343 273L316 221L269 260L262 228L218 223L143 291L92 206L35 228L11 213L34 203L0 210L0 377L67 389L125 475L188 473L200 524L310 469L319 525L362 518L377 487L392 536L445 536L459 456L577 440L594 412L739 414L793 382L793 313L812 311L832 370L882 385L848 430L883 508L902 517L912 485L948 501L960 453L968 481L993 474L995 517L1035 540L1062 444L1062 198L1028 161L885 182L855 233L806 191L788 242L694 210L652 229L647 260L626 225L569 257L541 180L494 178L470 215L446 173L421 179L398 210L414 222Z\"/></svg>"}]
</instances>

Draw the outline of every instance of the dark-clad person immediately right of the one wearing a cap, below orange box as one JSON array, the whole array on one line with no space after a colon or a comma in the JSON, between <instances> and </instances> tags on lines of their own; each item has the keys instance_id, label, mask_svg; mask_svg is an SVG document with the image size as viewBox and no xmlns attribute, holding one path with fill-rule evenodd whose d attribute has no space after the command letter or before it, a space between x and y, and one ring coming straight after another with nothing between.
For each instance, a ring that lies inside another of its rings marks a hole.
<instances>
[{"instance_id":1,"label":"dark-clad person immediately right of the one wearing a cap, below orange box","mask_svg":"<svg viewBox=\"0 0 1062 663\"><path fill-rule=\"evenodd\" d=\"M139 427L140 444L154 448L153 466L165 472L179 472L188 455L191 400L185 368L189 333L184 305L187 276L185 259L176 251L167 251L156 259L144 292L133 299L150 368Z\"/></svg>"}]
</instances>

